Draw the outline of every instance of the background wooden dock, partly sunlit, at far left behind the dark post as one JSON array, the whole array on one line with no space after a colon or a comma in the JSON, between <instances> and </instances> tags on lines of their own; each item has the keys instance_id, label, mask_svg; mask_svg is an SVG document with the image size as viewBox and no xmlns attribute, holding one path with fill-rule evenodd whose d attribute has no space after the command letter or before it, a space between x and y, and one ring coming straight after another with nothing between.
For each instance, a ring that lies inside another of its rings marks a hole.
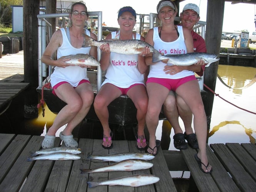
<instances>
[{"instance_id":1,"label":"background wooden dock, partly sunlit, at far left behind the dark post","mask_svg":"<svg viewBox=\"0 0 256 192\"><path fill-rule=\"evenodd\" d=\"M28 87L24 81L23 51L0 58L0 108Z\"/></svg>"}]
</instances>

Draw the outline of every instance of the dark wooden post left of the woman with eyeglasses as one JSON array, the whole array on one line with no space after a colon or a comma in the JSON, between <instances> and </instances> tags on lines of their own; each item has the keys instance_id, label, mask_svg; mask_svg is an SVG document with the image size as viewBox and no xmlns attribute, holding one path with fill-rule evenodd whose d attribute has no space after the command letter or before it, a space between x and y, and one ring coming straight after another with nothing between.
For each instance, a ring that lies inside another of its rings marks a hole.
<instances>
[{"instance_id":1,"label":"dark wooden post left of the woman with eyeglasses","mask_svg":"<svg viewBox=\"0 0 256 192\"><path fill-rule=\"evenodd\" d=\"M25 92L25 118L38 117L38 19L40 1L23 0L24 81L30 83Z\"/></svg>"}]
</instances>

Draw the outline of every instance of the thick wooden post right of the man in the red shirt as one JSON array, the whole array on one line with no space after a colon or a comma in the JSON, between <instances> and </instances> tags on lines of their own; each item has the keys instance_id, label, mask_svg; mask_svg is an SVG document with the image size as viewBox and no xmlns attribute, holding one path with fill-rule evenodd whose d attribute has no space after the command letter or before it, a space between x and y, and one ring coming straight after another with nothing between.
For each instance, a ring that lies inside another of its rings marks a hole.
<instances>
[{"instance_id":1,"label":"thick wooden post right of the man in the red shirt","mask_svg":"<svg viewBox=\"0 0 256 192\"><path fill-rule=\"evenodd\" d=\"M221 33L224 17L224 0L207 1L207 18L206 18L206 49L208 53L219 55L221 45ZM206 67L204 72L204 84L215 91L216 77L218 73L219 62L212 63ZM211 112L213 109L214 94L204 87L206 93L206 102L204 109L207 116L207 128L210 128Z\"/></svg>"}]
</instances>

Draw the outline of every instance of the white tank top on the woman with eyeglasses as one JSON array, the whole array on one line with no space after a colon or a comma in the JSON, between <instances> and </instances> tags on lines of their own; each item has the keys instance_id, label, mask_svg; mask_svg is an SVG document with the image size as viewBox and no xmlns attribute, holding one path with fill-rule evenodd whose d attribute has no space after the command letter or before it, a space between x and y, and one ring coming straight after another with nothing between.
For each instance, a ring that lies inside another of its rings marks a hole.
<instances>
[{"instance_id":1,"label":"white tank top on the woman with eyeglasses","mask_svg":"<svg viewBox=\"0 0 256 192\"><path fill-rule=\"evenodd\" d=\"M91 47L86 48L74 48L66 36L64 28L62 31L62 45L57 50L57 58L67 55L76 55L77 53L89 54ZM86 35L90 36L90 31L85 30ZM51 85L55 86L57 83L67 81L73 87L78 86L78 83L82 80L89 80L87 77L87 69L80 66L68 66L65 68L55 66L53 74L51 75Z\"/></svg>"}]
</instances>

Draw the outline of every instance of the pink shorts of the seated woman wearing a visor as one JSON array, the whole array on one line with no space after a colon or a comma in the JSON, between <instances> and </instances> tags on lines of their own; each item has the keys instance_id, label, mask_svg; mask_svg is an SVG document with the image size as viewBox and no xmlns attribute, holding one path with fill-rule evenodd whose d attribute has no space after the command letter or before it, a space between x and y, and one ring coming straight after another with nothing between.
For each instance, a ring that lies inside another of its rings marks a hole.
<instances>
[{"instance_id":1,"label":"pink shorts of the seated woman wearing a visor","mask_svg":"<svg viewBox=\"0 0 256 192\"><path fill-rule=\"evenodd\" d=\"M194 75L187 76L187 77L180 78L180 79L165 79L165 78L151 77L151 78L148 78L146 83L158 83L158 84L165 86L169 90L176 91L176 89L180 85L182 85L188 81L192 81L192 80L196 80L196 77Z\"/></svg>"}]
</instances>

